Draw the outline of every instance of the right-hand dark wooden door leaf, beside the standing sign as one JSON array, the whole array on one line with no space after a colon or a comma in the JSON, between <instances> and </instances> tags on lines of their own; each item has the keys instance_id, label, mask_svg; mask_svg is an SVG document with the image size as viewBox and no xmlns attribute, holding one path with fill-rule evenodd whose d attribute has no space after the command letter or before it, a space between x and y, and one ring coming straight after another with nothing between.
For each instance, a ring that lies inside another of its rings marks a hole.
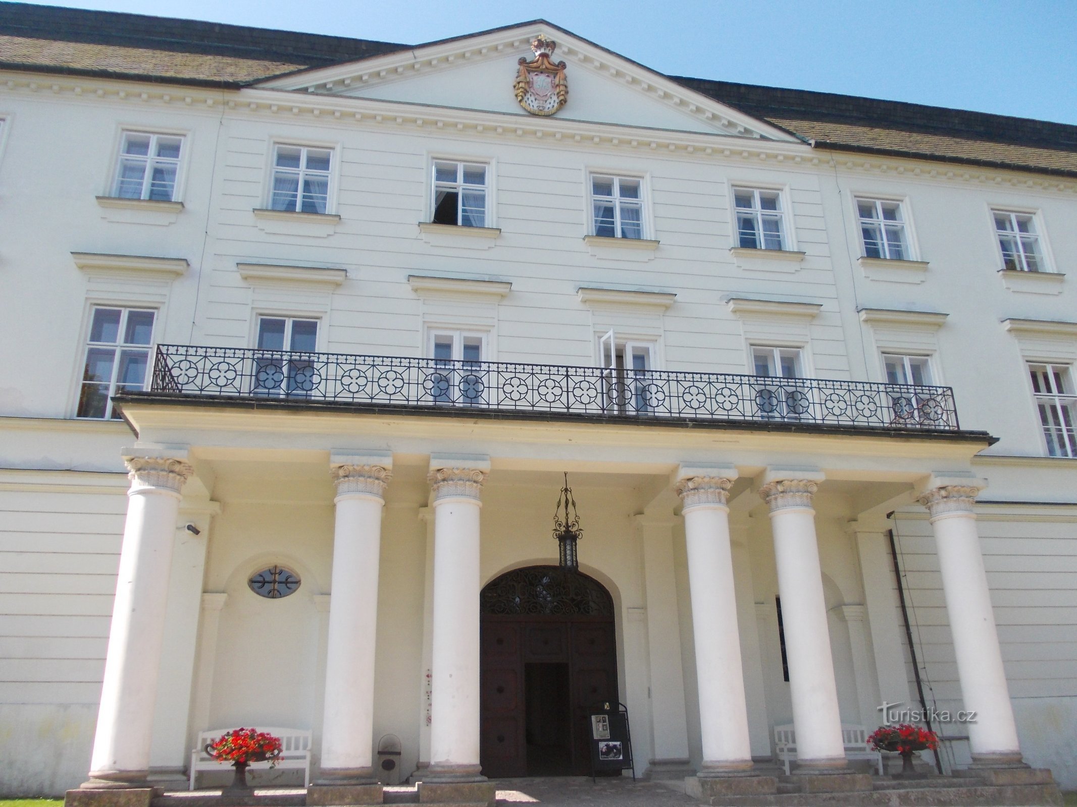
<instances>
[{"instance_id":1,"label":"right-hand dark wooden door leaf, beside the standing sign","mask_svg":"<svg viewBox=\"0 0 1077 807\"><path fill-rule=\"evenodd\" d=\"M617 654L613 622L574 622L571 639L573 773L590 774L590 710L617 703Z\"/></svg>"}]
</instances>

